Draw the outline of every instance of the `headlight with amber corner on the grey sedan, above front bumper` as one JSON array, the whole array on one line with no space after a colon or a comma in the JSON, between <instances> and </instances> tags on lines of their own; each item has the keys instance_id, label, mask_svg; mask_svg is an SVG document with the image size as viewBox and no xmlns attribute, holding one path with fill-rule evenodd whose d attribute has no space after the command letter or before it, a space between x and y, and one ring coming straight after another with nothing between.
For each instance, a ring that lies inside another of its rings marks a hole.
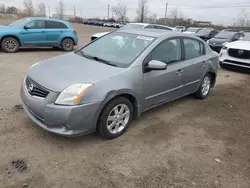
<instances>
[{"instance_id":1,"label":"headlight with amber corner on the grey sedan, above front bumper","mask_svg":"<svg viewBox=\"0 0 250 188\"><path fill-rule=\"evenodd\" d=\"M56 104L77 105L93 84L78 83L64 89L56 99Z\"/></svg>"}]
</instances>

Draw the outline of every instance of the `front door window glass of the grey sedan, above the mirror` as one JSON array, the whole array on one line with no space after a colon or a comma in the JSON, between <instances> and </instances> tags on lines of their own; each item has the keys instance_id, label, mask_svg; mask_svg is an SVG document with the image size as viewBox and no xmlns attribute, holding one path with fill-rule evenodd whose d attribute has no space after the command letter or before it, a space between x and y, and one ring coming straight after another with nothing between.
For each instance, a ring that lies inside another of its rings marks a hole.
<instances>
[{"instance_id":1,"label":"front door window glass of the grey sedan, above the mirror","mask_svg":"<svg viewBox=\"0 0 250 188\"><path fill-rule=\"evenodd\" d=\"M180 39L165 40L160 43L151 53L152 60L171 63L181 60Z\"/></svg>"}]
</instances>

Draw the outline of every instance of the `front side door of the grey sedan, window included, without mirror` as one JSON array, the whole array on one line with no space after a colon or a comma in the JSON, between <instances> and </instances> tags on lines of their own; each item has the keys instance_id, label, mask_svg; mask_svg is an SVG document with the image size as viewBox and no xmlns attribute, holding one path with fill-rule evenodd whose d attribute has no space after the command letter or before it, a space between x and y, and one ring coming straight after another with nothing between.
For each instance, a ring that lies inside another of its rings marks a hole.
<instances>
[{"instance_id":1,"label":"front side door of the grey sedan, window included, without mirror","mask_svg":"<svg viewBox=\"0 0 250 188\"><path fill-rule=\"evenodd\" d=\"M149 55L146 62L158 60L167 64L166 70L152 70L143 75L144 106L148 109L181 96L183 88L181 40L167 39Z\"/></svg>"}]
</instances>

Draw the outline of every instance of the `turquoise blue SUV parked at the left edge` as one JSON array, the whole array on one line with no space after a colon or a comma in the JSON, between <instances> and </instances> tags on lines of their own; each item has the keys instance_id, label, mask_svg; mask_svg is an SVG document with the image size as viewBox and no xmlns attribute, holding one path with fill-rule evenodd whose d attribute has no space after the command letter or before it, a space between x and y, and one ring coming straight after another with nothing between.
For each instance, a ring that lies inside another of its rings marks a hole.
<instances>
[{"instance_id":1,"label":"turquoise blue SUV parked at the left edge","mask_svg":"<svg viewBox=\"0 0 250 188\"><path fill-rule=\"evenodd\" d=\"M78 43L68 22L49 18L24 18L0 29L1 48L16 52L20 47L53 46L71 51Z\"/></svg>"}]
</instances>

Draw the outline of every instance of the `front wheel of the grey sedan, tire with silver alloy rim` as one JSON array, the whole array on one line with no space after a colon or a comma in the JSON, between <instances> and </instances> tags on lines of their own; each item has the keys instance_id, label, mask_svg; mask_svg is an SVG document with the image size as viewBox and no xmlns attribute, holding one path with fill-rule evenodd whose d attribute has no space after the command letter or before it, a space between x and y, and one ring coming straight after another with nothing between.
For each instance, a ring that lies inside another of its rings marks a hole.
<instances>
[{"instance_id":1,"label":"front wheel of the grey sedan, tire with silver alloy rim","mask_svg":"<svg viewBox=\"0 0 250 188\"><path fill-rule=\"evenodd\" d=\"M133 105L125 97L119 97L110 101L104 107L99 117L98 132L106 139L114 139L121 136L132 123L133 112Z\"/></svg>"}]
</instances>

